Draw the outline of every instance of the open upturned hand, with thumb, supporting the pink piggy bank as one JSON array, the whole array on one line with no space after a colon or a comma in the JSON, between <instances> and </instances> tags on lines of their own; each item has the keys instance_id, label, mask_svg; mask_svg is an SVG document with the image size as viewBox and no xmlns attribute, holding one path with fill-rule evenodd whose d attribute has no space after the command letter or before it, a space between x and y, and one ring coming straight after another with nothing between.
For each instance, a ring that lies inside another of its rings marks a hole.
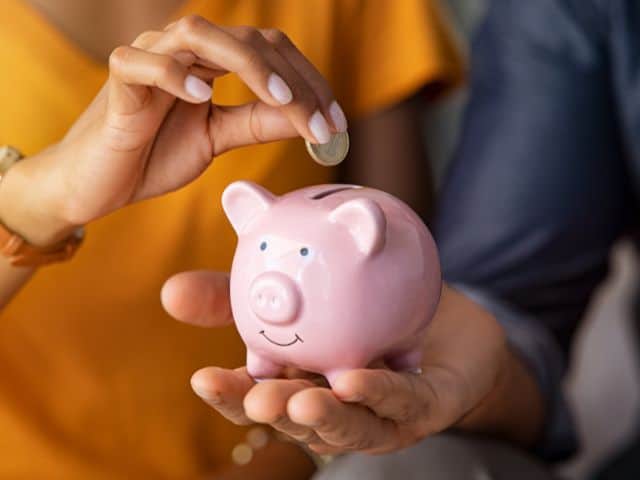
<instances>
[{"instance_id":1,"label":"open upturned hand, with thumb, supporting the pink piggy bank","mask_svg":"<svg viewBox=\"0 0 640 480\"><path fill-rule=\"evenodd\" d=\"M177 275L165 285L163 303L189 323L232 321L222 274ZM300 373L256 384L244 368L209 367L196 372L192 386L232 422L269 424L323 454L389 452L451 427L527 444L540 428L540 394L501 327L448 287L427 331L421 374L353 370L330 390Z\"/></svg>"}]
</instances>

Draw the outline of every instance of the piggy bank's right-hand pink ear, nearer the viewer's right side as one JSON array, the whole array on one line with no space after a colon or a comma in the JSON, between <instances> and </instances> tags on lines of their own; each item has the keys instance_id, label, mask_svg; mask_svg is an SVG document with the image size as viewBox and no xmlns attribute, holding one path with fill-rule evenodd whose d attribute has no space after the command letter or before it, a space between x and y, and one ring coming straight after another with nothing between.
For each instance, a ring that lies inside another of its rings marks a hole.
<instances>
[{"instance_id":1,"label":"piggy bank's right-hand pink ear, nearer the viewer's right side","mask_svg":"<svg viewBox=\"0 0 640 480\"><path fill-rule=\"evenodd\" d=\"M347 227L358 249L367 256L380 251L384 246L387 220L380 206L373 200L349 200L329 214L329 221Z\"/></svg>"}]
</instances>

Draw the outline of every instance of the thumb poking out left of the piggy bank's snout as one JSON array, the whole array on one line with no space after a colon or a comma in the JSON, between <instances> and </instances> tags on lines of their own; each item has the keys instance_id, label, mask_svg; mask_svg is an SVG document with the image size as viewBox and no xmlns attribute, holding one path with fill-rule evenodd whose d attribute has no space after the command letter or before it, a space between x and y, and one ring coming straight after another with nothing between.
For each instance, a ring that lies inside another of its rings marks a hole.
<instances>
[{"instance_id":1,"label":"thumb poking out left of the piggy bank's snout","mask_svg":"<svg viewBox=\"0 0 640 480\"><path fill-rule=\"evenodd\" d=\"M201 327L221 327L233 322L226 273L178 273L165 282L160 298L169 315L181 322Z\"/></svg>"}]
</instances>

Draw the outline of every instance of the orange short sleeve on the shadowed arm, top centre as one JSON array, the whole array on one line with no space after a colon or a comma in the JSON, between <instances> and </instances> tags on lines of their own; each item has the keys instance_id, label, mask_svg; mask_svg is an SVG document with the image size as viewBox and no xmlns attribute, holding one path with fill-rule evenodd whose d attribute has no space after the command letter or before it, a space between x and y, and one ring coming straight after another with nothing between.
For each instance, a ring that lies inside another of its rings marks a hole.
<instances>
[{"instance_id":1,"label":"orange short sleeve on the shadowed arm, top centre","mask_svg":"<svg viewBox=\"0 0 640 480\"><path fill-rule=\"evenodd\" d=\"M338 98L358 117L423 87L442 93L461 82L464 62L437 0L360 0L339 24Z\"/></svg>"}]
</instances>

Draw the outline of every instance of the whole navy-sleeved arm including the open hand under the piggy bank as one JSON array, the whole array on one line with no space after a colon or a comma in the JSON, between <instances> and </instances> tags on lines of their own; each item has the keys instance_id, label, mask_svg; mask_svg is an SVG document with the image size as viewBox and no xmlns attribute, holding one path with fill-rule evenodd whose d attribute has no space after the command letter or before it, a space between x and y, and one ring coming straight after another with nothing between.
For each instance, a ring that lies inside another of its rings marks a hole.
<instances>
[{"instance_id":1,"label":"whole navy-sleeved arm including the open hand under the piggy bank","mask_svg":"<svg viewBox=\"0 0 640 480\"><path fill-rule=\"evenodd\" d=\"M443 292L422 375L357 370L331 392L212 367L194 375L196 393L234 422L272 423L321 452L380 453L452 427L548 459L575 447L562 347L606 273L630 192L597 32L560 3L496 0L474 43L435 229L445 277L461 287ZM188 278L170 280L164 300L192 321L172 298L193 308L211 294Z\"/></svg>"}]
</instances>

